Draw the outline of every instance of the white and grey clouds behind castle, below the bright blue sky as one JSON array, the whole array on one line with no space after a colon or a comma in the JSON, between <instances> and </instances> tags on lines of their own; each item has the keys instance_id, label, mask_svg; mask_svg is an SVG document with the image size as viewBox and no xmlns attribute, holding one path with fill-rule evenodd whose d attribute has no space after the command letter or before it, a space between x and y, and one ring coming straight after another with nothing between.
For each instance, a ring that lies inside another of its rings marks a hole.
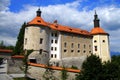
<instances>
[{"instance_id":1,"label":"white and grey clouds behind castle, below the bright blue sky","mask_svg":"<svg viewBox=\"0 0 120 80\"><path fill-rule=\"evenodd\" d=\"M61 5L49 5L41 7L42 17L45 21L58 23L72 27L79 27L90 31L93 28L94 10L97 10L101 20L101 26L110 33L111 51L119 51L120 32L120 8L116 6L96 7L93 10L79 11L80 1ZM18 13L4 11L0 13L0 40L15 44L19 28L24 21L30 21L36 16L38 6L25 6ZM4 36L3 36L4 35ZM9 37L8 37L9 36Z\"/></svg>"}]
</instances>

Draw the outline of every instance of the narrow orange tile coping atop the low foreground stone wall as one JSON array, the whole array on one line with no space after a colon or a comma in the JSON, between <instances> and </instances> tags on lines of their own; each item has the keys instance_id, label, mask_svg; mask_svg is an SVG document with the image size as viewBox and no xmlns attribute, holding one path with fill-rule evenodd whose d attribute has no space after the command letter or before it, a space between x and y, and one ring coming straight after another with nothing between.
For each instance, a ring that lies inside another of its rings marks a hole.
<instances>
[{"instance_id":1,"label":"narrow orange tile coping atop the low foreground stone wall","mask_svg":"<svg viewBox=\"0 0 120 80\"><path fill-rule=\"evenodd\" d=\"M31 66L36 66L36 67L42 67L42 68L47 68L47 65L44 64L36 64L36 63L28 63ZM54 70L63 70L62 67L56 67L56 66L49 66L48 68L54 69ZM65 68L65 70L69 71L69 72L74 72L74 73L79 73L80 70L79 69L71 69L71 68Z\"/></svg>"}]
</instances>

